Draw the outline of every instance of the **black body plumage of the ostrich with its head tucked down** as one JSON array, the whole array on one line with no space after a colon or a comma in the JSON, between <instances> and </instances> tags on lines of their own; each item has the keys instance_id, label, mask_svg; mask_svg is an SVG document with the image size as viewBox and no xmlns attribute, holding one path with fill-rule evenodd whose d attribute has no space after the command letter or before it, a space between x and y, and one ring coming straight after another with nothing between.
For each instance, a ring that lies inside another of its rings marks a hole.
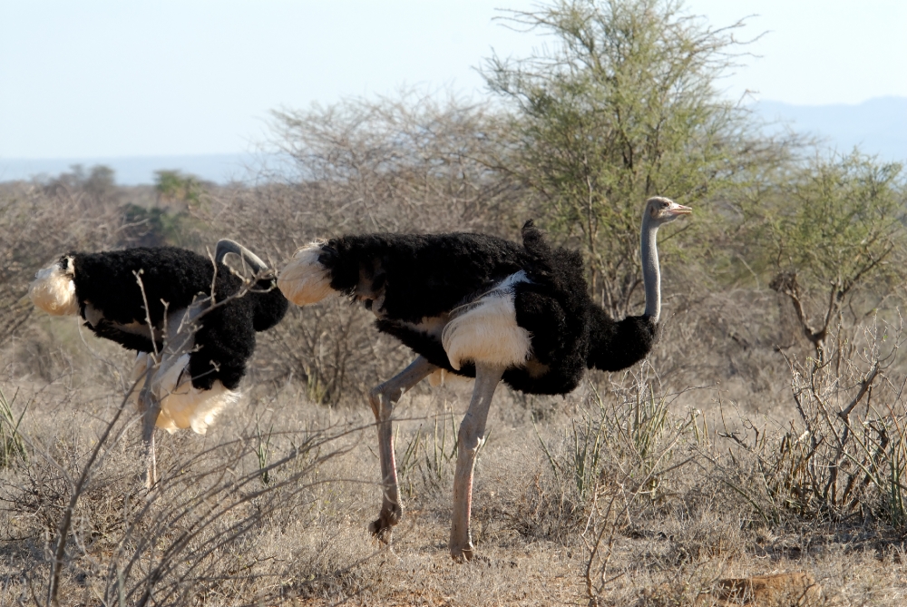
<instances>
[{"instance_id":1,"label":"black body plumage of the ostrich with its head tucked down","mask_svg":"<svg viewBox=\"0 0 907 607\"><path fill-rule=\"evenodd\" d=\"M218 264L215 277L210 259L174 247L73 252L61 259L62 268L67 268L68 259L72 259L79 313L89 320L85 325L99 337L140 352L155 347L147 318L160 329L168 313L209 297L212 284L216 301L228 299L242 286L242 280L224 264ZM206 311L190 353L192 386L207 390L219 379L228 389L238 387L255 349L255 332L276 325L287 308L288 301L274 288L274 280L263 279L243 297ZM93 318L93 309L101 313L100 320ZM161 349L160 331L157 339L156 347Z\"/></svg>"}]
</instances>

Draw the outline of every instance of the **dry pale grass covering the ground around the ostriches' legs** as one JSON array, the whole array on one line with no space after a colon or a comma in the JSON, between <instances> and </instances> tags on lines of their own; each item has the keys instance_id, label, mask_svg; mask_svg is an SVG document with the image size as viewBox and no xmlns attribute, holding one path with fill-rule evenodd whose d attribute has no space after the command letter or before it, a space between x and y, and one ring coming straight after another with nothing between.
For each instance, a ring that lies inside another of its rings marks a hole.
<instances>
[{"instance_id":1,"label":"dry pale grass covering the ground around the ostriches' legs","mask_svg":"<svg viewBox=\"0 0 907 607\"><path fill-rule=\"evenodd\" d=\"M28 458L0 472L4 602L44 604L73 477L118 406L128 363L118 354L81 360L78 375L94 380L82 385L67 374L4 379L5 392L20 390L14 416L28 403L18 430ZM366 532L380 494L365 406L318 405L307 385L264 382L208 436L160 434L151 494L130 415L77 504L62 603L693 605L723 579L806 571L821 604L901 604L902 536L890 521L766 522L729 486L757 461L679 403L707 407L714 391L678 396L646 367L610 380L563 400L499 393L477 468L481 557L467 565L451 562L446 541L451 420L468 383L419 387L397 409L407 509L390 547Z\"/></svg>"}]
</instances>

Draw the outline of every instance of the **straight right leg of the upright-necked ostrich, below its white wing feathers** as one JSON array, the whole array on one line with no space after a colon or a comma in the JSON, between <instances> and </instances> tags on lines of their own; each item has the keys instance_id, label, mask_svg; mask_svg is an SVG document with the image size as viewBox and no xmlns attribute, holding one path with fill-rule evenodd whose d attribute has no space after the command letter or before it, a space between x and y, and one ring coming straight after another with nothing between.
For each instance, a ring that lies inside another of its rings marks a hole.
<instances>
[{"instance_id":1,"label":"straight right leg of the upright-necked ostrich, below its white wing feathers","mask_svg":"<svg viewBox=\"0 0 907 607\"><path fill-rule=\"evenodd\" d=\"M473 558L473 538L469 534L469 514L473 507L473 469L475 455L485 436L488 406L492 404L494 388L503 375L503 367L476 364L473 399L460 423L457 433L456 472L453 475L453 515L451 517L450 550L454 561Z\"/></svg>"}]
</instances>

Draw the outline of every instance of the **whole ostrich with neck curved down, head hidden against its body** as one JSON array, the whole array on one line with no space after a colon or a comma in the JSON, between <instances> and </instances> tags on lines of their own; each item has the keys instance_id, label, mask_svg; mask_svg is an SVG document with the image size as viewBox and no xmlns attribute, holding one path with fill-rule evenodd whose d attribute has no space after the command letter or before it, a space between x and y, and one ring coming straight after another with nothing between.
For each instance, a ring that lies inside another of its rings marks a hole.
<instances>
[{"instance_id":1,"label":"whole ostrich with neck curved down, head hidden against its body","mask_svg":"<svg viewBox=\"0 0 907 607\"><path fill-rule=\"evenodd\" d=\"M251 279L224 264L229 253ZM145 412L150 484L154 426L205 434L239 398L255 332L288 308L274 272L232 240L218 242L213 263L174 247L71 252L38 271L28 294L49 314L81 316L98 337L138 351L131 398Z\"/></svg>"}]
</instances>

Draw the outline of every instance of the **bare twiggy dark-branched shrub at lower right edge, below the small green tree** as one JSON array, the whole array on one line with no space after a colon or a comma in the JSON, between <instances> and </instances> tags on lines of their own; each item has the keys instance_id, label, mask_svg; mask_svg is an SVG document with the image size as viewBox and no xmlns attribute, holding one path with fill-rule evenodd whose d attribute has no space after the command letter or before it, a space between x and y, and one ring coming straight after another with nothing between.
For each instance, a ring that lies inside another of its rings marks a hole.
<instances>
[{"instance_id":1,"label":"bare twiggy dark-branched shrub at lower right edge, below the small green tree","mask_svg":"<svg viewBox=\"0 0 907 607\"><path fill-rule=\"evenodd\" d=\"M754 456L741 493L766 522L907 524L902 324L877 320L826 360L789 358L795 417L781 432L727 433Z\"/></svg>"}]
</instances>

